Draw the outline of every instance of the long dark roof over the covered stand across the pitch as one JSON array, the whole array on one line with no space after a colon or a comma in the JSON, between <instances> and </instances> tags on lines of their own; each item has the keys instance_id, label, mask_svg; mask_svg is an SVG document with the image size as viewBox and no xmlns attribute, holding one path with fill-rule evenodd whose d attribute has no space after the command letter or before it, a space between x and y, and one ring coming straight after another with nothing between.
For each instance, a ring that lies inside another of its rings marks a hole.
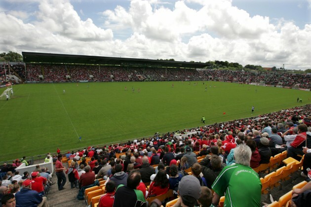
<instances>
[{"instance_id":1,"label":"long dark roof over the covered stand across the pitch","mask_svg":"<svg viewBox=\"0 0 311 207\"><path fill-rule=\"evenodd\" d=\"M25 63L67 63L67 64L98 64L120 66L172 67L172 68L204 68L205 63L179 61L163 61L135 58L114 58L87 55L66 55L53 53L22 52Z\"/></svg>"}]
</instances>

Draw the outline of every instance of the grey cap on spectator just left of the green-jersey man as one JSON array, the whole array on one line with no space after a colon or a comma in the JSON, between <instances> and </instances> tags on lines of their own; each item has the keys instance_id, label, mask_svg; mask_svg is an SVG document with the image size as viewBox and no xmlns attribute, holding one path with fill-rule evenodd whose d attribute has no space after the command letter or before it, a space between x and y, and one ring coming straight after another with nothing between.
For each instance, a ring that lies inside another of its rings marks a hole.
<instances>
[{"instance_id":1,"label":"grey cap on spectator just left of the green-jersey man","mask_svg":"<svg viewBox=\"0 0 311 207\"><path fill-rule=\"evenodd\" d=\"M193 175L186 175L179 182L178 193L180 196L191 196L198 200L201 196L200 182Z\"/></svg>"}]
</instances>

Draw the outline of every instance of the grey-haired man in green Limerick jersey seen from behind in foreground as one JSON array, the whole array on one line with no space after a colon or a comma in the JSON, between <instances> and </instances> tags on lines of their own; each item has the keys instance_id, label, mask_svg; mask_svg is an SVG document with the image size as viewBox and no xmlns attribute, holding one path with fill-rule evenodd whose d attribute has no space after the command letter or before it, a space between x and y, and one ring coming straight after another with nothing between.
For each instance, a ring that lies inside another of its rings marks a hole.
<instances>
[{"instance_id":1,"label":"grey-haired man in green Limerick jersey seen from behind in foreground","mask_svg":"<svg viewBox=\"0 0 311 207\"><path fill-rule=\"evenodd\" d=\"M224 195L224 206L260 206L261 182L258 174L249 167L251 156L252 151L246 145L234 149L235 165L225 167L212 185L214 206L218 206Z\"/></svg>"}]
</instances>

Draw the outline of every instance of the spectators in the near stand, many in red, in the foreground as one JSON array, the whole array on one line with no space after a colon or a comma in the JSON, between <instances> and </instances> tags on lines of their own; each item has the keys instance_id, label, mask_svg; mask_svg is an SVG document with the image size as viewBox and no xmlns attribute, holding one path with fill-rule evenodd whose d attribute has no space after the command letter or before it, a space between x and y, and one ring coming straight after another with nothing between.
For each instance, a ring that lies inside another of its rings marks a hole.
<instances>
[{"instance_id":1,"label":"spectators in the near stand, many in red, in the foreground","mask_svg":"<svg viewBox=\"0 0 311 207\"><path fill-rule=\"evenodd\" d=\"M85 189L99 185L97 179L106 180L99 207L147 206L151 197L168 192L170 199L179 196L175 206L217 206L222 196L226 206L260 206L261 181L253 169L282 151L297 160L305 155L301 176L307 178L310 104L65 154L57 149L57 156L48 154L46 161L55 162L58 190L68 179L71 188L79 189L78 199L83 199ZM64 160L69 168L63 166ZM28 164L21 159L3 165L2 204L48 206L44 195L54 184L50 173L37 166L34 172L19 175L15 169L23 162ZM310 185L294 193L299 196L308 190Z\"/></svg>"}]
</instances>

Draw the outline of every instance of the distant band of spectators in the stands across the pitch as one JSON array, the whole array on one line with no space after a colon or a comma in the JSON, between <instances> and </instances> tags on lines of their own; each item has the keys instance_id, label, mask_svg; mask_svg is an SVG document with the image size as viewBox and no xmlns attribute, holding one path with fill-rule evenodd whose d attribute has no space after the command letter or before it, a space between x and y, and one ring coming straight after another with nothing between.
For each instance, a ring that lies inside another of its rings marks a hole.
<instances>
[{"instance_id":1,"label":"distant band of spectators in the stands across the pitch","mask_svg":"<svg viewBox=\"0 0 311 207\"><path fill-rule=\"evenodd\" d=\"M1 65L1 68L4 66ZM6 68L8 72L8 67ZM78 81L226 81L246 84L266 84L278 87L311 88L311 75L285 72L258 72L218 69L176 69L152 67L117 67L79 64L26 64L11 67L30 82ZM0 70L0 82L5 80Z\"/></svg>"}]
</instances>

